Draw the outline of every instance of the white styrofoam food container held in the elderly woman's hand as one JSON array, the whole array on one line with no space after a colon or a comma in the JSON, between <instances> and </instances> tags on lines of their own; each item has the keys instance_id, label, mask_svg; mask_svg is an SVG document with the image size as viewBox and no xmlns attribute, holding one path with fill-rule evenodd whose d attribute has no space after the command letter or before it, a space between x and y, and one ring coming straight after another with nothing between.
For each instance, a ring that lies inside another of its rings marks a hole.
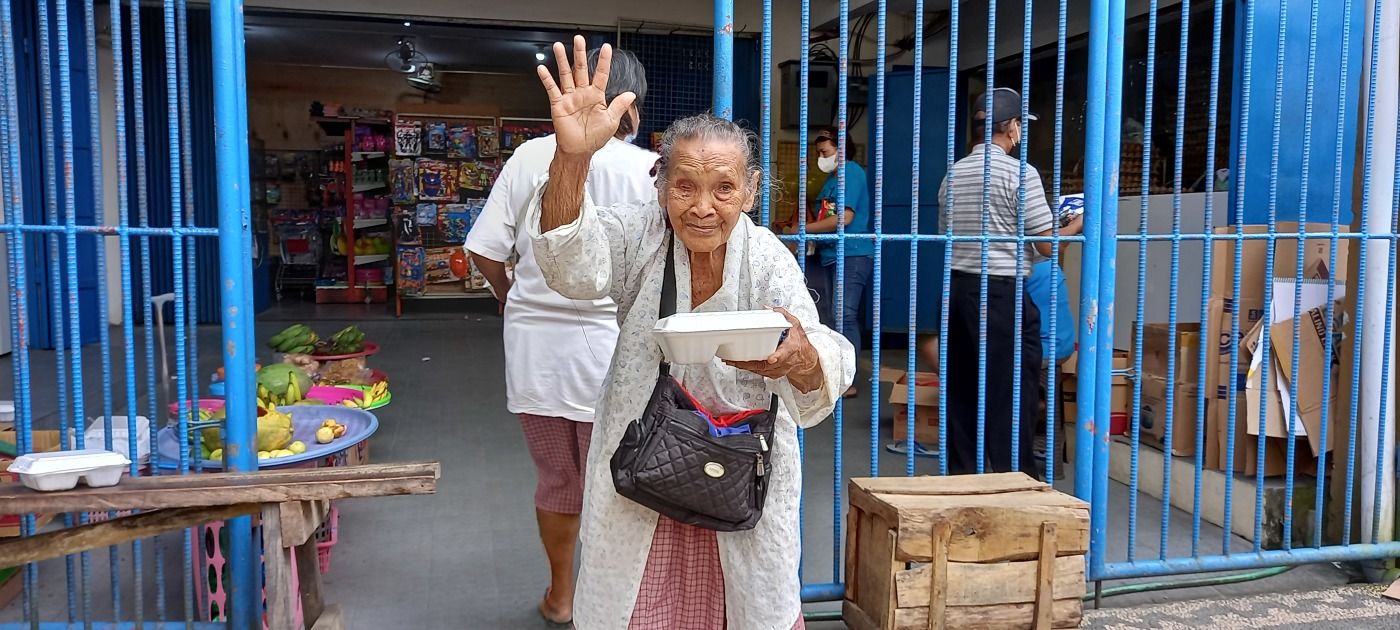
<instances>
[{"instance_id":1,"label":"white styrofoam food container held in the elderly woman's hand","mask_svg":"<svg viewBox=\"0 0 1400 630\"><path fill-rule=\"evenodd\" d=\"M652 335L666 361L679 365L727 361L759 361L778 347L792 328L776 311L687 312L657 322Z\"/></svg>"}]
</instances>

